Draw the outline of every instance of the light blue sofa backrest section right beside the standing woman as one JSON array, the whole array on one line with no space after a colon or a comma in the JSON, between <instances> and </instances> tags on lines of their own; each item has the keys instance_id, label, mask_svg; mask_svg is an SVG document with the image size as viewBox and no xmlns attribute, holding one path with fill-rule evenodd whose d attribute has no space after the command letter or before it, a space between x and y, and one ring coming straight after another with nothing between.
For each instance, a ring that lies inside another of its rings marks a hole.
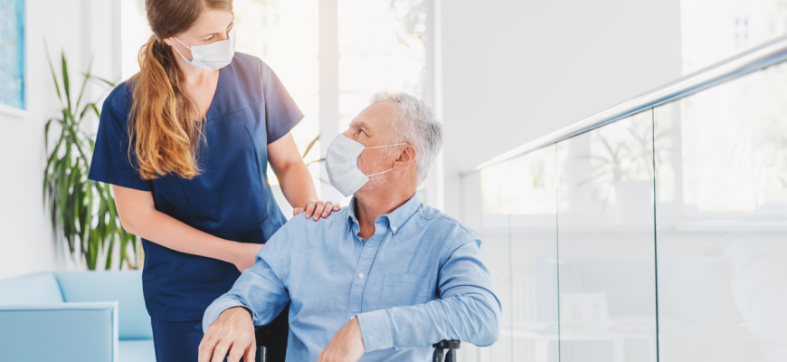
<instances>
[{"instance_id":1,"label":"light blue sofa backrest section right beside the standing woman","mask_svg":"<svg viewBox=\"0 0 787 362\"><path fill-rule=\"evenodd\" d=\"M118 301L119 338L151 339L142 296L142 271L56 272L66 302Z\"/></svg>"}]
</instances>

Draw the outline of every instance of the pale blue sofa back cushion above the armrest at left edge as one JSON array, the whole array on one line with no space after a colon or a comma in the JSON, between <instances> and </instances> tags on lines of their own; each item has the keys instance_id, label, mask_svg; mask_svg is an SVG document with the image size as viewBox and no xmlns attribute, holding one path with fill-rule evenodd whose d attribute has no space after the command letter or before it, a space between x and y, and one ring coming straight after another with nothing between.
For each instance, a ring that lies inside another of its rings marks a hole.
<instances>
[{"instance_id":1,"label":"pale blue sofa back cushion above the armrest at left edge","mask_svg":"<svg viewBox=\"0 0 787 362\"><path fill-rule=\"evenodd\" d=\"M0 281L0 304L62 303L62 293L51 272Z\"/></svg>"}]
</instances>

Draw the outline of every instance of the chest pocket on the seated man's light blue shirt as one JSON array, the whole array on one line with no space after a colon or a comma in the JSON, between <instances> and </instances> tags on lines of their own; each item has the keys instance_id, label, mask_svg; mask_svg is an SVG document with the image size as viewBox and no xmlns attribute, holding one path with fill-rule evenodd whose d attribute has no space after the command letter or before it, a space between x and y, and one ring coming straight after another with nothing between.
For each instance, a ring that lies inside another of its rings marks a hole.
<instances>
[{"instance_id":1,"label":"chest pocket on the seated man's light blue shirt","mask_svg":"<svg viewBox=\"0 0 787 362\"><path fill-rule=\"evenodd\" d=\"M385 273L377 310L411 306L428 300L429 278L401 272Z\"/></svg>"}]
</instances>

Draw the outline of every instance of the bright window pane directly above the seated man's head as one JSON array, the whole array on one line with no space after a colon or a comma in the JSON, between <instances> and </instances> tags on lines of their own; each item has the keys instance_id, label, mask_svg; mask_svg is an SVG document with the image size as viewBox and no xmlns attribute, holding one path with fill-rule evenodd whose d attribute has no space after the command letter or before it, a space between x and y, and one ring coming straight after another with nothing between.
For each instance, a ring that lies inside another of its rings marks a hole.
<instances>
[{"instance_id":1,"label":"bright window pane directly above the seated man's head","mask_svg":"<svg viewBox=\"0 0 787 362\"><path fill-rule=\"evenodd\" d=\"M339 129L378 91L423 97L423 0L338 0Z\"/></svg>"}]
</instances>

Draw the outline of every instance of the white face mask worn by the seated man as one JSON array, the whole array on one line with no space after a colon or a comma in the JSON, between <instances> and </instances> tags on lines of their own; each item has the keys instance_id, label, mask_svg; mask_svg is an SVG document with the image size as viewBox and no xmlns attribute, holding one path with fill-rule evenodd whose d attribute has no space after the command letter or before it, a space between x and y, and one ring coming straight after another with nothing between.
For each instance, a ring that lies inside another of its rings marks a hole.
<instances>
[{"instance_id":1,"label":"white face mask worn by the seated man","mask_svg":"<svg viewBox=\"0 0 787 362\"><path fill-rule=\"evenodd\" d=\"M406 143L371 148L386 148L401 145L406 145ZM358 156L361 155L364 149L371 148L367 148L350 138L346 138L345 135L342 134L334 138L334 141L328 146L327 155L325 157L325 167L328 179L330 179L331 185L336 187L345 197L355 194L356 191L369 181L369 177L381 175L394 169L389 168L383 172L365 175L364 172L358 168Z\"/></svg>"}]
</instances>

